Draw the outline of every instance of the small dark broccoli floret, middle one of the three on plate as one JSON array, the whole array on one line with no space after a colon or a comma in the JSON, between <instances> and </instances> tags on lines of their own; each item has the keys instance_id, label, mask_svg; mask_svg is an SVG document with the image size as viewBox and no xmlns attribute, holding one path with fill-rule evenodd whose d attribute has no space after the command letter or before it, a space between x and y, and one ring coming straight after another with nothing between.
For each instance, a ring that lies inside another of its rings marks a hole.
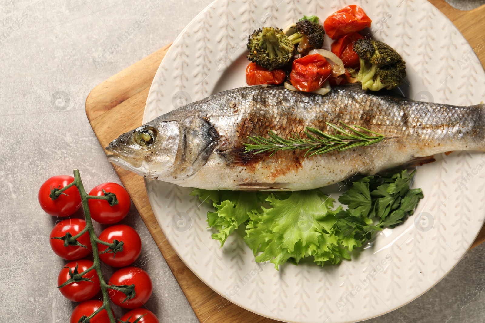
<instances>
[{"instance_id":1,"label":"small dark broccoli floret, middle one of the three on plate","mask_svg":"<svg viewBox=\"0 0 485 323\"><path fill-rule=\"evenodd\" d=\"M306 55L312 49L322 48L325 31L318 20L317 22L313 20L303 19L298 21L294 27L295 33L288 36L294 45L298 44L297 51L299 54Z\"/></svg>"}]
</instances>

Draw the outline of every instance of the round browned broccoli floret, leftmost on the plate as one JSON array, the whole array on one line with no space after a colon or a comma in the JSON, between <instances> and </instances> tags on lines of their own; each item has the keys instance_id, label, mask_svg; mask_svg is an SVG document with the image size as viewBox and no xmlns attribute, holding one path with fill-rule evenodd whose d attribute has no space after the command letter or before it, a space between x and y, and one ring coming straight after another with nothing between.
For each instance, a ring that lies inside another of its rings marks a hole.
<instances>
[{"instance_id":1,"label":"round browned broccoli floret, leftmost on the plate","mask_svg":"<svg viewBox=\"0 0 485 323\"><path fill-rule=\"evenodd\" d=\"M281 29L264 27L249 36L247 49L249 61L272 71L291 61L295 46Z\"/></svg>"}]
</instances>

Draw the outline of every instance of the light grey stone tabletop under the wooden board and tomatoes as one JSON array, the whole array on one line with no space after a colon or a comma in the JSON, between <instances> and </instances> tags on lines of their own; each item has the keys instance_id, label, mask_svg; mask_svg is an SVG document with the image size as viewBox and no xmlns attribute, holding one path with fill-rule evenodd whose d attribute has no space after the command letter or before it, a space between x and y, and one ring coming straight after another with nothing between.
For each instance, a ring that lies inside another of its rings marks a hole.
<instances>
[{"instance_id":1,"label":"light grey stone tabletop under the wooden board and tomatoes","mask_svg":"<svg viewBox=\"0 0 485 323\"><path fill-rule=\"evenodd\" d=\"M453 0L461 9L483 2ZM75 304L56 289L65 261L50 250L54 218L40 209L38 187L50 176L71 174L75 168L81 169L88 189L119 182L87 121L86 96L104 79L173 41L208 3L2 1L0 321L68 322ZM140 23L143 16L146 19ZM117 37L130 28L135 32L111 50ZM55 102L59 93L64 100ZM136 209L123 223L140 233L143 251L138 263L145 261L143 268L154 281L146 307L164 323L197 322ZM485 244L468 252L447 277L417 300L367 322L484 322L485 294L475 292L479 285L485 286L484 257ZM116 310L116 314L122 312Z\"/></svg>"}]
</instances>

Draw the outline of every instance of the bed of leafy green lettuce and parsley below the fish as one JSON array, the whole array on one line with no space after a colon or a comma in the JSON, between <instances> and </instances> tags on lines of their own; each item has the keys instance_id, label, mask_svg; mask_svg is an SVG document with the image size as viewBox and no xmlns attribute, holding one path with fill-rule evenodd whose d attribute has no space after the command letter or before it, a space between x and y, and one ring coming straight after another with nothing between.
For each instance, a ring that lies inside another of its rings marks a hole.
<instances>
[{"instance_id":1,"label":"bed of leafy green lettuce and parsley below the fish","mask_svg":"<svg viewBox=\"0 0 485 323\"><path fill-rule=\"evenodd\" d=\"M356 247L384 227L395 227L412 215L423 194L410 189L415 171L383 177L367 176L350 185L334 208L334 200L318 189L268 192L194 189L191 195L212 203L207 213L212 238L221 247L235 229L245 225L245 243L257 262L298 264L312 257L321 266L350 260Z\"/></svg>"}]
</instances>

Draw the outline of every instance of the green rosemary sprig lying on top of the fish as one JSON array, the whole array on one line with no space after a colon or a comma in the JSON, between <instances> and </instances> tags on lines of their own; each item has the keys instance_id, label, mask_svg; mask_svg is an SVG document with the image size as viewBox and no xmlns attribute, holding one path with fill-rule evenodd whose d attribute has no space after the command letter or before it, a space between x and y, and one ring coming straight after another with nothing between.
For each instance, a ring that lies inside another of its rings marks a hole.
<instances>
[{"instance_id":1,"label":"green rosemary sprig lying on top of the fish","mask_svg":"<svg viewBox=\"0 0 485 323\"><path fill-rule=\"evenodd\" d=\"M302 138L298 134L293 134L290 138L281 138L273 131L269 131L269 138L262 136L248 137L254 143L245 143L245 153L251 152L253 154L271 152L275 154L278 150L307 150L305 156L321 155L333 151L344 151L360 146L369 146L385 139L397 138L399 136L386 137L379 133L373 132L369 129L358 125L347 125L340 122L341 126L335 124L326 124L334 129L333 134L324 133L321 130L305 127L305 135L307 138ZM355 129L355 128L357 129ZM361 131L359 131L361 130ZM368 133L368 134L366 134Z\"/></svg>"}]
</instances>

